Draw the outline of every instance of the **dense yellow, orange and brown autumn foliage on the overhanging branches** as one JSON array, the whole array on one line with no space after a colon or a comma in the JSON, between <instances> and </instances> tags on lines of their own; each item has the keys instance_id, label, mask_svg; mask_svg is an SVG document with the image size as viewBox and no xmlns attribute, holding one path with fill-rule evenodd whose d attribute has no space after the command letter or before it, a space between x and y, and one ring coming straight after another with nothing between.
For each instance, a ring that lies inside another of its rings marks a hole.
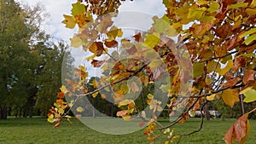
<instances>
[{"instance_id":1,"label":"dense yellow, orange and brown autumn foliage on the overhanging branches","mask_svg":"<svg viewBox=\"0 0 256 144\"><path fill-rule=\"evenodd\" d=\"M84 84L88 84L89 71L80 66L80 75L74 74L79 81L70 80L67 84L72 88L61 87L66 96L75 95L67 105L75 107L75 102L84 96L102 95L103 99L110 96L121 108L117 117L128 121L139 117L142 121L138 125L146 126L144 135L148 141L154 143L159 137L154 130L160 129L165 131L164 135L169 134L166 136L169 143L201 130L200 127L188 134L174 134L175 130L170 129L174 124L184 123L189 113L206 109L211 101L224 101L226 107L234 107L237 102L254 102L255 2L163 0L166 14L161 18L154 16L148 32L135 32L130 38L123 37L122 29L113 26L112 18L118 13L110 12L117 12L119 1L73 3L72 15L64 15L62 21L69 28L79 26L71 45L91 54L85 59L91 61L91 66L101 68L102 76L90 82L94 89L88 90ZM140 82L131 82L130 78ZM137 108L141 104L132 95L141 91L139 86L150 84L154 90L149 90L146 97L148 109L141 111ZM102 89L109 92L109 88L113 93L102 94ZM158 113L166 108L170 118L180 113L171 124L161 125ZM53 121L67 116L59 112L60 107L55 109L54 117L49 115ZM76 109L83 110L83 107ZM224 140L232 143L233 137L243 143L249 128L245 114L230 127Z\"/></svg>"}]
</instances>

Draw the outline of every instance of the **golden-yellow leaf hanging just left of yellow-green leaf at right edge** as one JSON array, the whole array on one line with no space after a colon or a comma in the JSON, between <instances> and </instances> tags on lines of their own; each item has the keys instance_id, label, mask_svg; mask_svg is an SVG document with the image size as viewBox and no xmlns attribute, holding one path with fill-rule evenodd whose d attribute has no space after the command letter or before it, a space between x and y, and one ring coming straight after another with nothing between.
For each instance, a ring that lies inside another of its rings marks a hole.
<instances>
[{"instance_id":1,"label":"golden-yellow leaf hanging just left of yellow-green leaf at right edge","mask_svg":"<svg viewBox=\"0 0 256 144\"><path fill-rule=\"evenodd\" d=\"M224 103L230 107L233 107L235 102L239 101L239 94L237 89L225 89L221 97Z\"/></svg>"}]
</instances>

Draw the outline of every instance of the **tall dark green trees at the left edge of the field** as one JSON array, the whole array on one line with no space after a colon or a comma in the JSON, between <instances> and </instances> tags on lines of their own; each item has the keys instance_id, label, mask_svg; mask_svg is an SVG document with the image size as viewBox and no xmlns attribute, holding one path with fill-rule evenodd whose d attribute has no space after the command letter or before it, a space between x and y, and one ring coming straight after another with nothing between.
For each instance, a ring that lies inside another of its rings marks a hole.
<instances>
[{"instance_id":1,"label":"tall dark green trees at the left edge of the field","mask_svg":"<svg viewBox=\"0 0 256 144\"><path fill-rule=\"evenodd\" d=\"M39 5L0 2L0 119L46 115L56 99L67 45L40 29L43 13Z\"/></svg>"}]
</instances>

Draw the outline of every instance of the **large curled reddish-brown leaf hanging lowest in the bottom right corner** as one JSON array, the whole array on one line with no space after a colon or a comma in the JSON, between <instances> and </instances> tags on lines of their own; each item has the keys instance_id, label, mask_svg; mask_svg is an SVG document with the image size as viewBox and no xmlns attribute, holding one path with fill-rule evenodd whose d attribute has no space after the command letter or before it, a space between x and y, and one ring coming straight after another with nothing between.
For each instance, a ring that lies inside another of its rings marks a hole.
<instances>
[{"instance_id":1,"label":"large curled reddish-brown leaf hanging lowest in the bottom right corner","mask_svg":"<svg viewBox=\"0 0 256 144\"><path fill-rule=\"evenodd\" d=\"M247 128L249 129L248 122L248 113L242 115L240 118L236 120L234 124L230 126L230 129L224 135L224 141L226 144L232 144L232 139L234 138L235 141L241 141L246 135L248 135Z\"/></svg>"}]
</instances>

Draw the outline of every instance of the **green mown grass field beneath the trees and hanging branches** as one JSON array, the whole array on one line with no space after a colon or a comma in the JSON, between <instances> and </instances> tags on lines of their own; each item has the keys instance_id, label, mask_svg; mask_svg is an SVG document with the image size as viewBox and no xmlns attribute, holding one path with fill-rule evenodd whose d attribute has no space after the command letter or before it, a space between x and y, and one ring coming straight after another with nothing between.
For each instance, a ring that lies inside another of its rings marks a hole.
<instances>
[{"instance_id":1,"label":"green mown grass field beneath the trees and hanging branches","mask_svg":"<svg viewBox=\"0 0 256 144\"><path fill-rule=\"evenodd\" d=\"M224 133L234 121L235 119L205 121L203 129L199 133L183 137L181 144L223 144ZM161 123L167 124L167 120L162 120ZM175 126L175 131L187 133L196 130L199 124L200 119L190 118L187 123ZM254 144L256 141L256 120L251 120L251 128L247 144ZM47 123L46 118L9 118L0 120L0 143L141 144L149 142L143 135L143 130L129 135L106 135L90 130L74 119L73 124L63 122L59 128L53 129L53 124Z\"/></svg>"}]
</instances>

